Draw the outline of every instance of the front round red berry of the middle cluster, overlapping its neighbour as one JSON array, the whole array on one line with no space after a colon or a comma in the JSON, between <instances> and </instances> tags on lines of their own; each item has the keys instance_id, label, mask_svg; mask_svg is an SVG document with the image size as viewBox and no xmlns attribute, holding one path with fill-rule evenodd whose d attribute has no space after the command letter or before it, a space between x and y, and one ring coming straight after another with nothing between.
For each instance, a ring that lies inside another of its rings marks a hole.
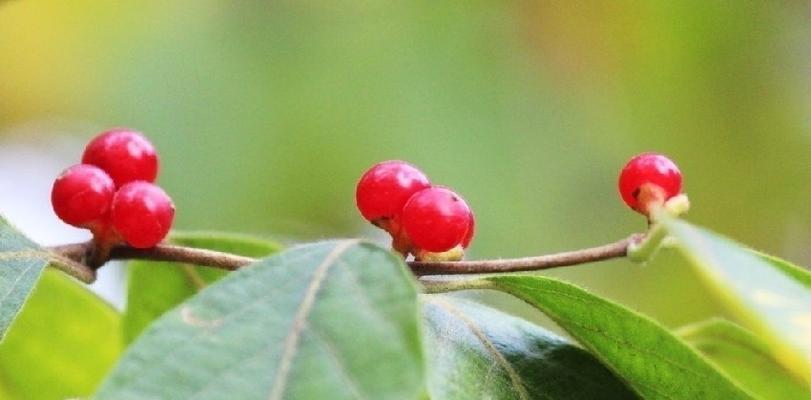
<instances>
[{"instance_id":1,"label":"front round red berry of the middle cluster, overlapping its neighbour","mask_svg":"<svg viewBox=\"0 0 811 400\"><path fill-rule=\"evenodd\" d=\"M444 187L423 189L403 208L403 228L415 247L440 253L461 244L472 213L462 198Z\"/></svg>"}]
</instances>

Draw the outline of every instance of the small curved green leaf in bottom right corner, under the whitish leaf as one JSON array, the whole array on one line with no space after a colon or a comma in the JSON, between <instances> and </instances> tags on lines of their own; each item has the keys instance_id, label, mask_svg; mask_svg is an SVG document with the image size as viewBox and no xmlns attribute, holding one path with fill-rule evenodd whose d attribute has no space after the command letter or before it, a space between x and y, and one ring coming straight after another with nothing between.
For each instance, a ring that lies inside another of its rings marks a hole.
<instances>
[{"instance_id":1,"label":"small curved green leaf in bottom right corner, under the whitish leaf","mask_svg":"<svg viewBox=\"0 0 811 400\"><path fill-rule=\"evenodd\" d=\"M679 329L679 335L731 376L741 387L764 400L811 399L811 387L794 379L768 346L732 322L713 319Z\"/></svg>"}]
</instances>

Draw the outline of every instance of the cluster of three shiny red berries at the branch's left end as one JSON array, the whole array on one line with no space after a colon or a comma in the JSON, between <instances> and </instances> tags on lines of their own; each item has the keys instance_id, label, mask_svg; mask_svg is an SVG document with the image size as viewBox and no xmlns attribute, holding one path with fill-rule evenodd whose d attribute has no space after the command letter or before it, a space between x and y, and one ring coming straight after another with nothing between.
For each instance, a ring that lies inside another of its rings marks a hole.
<instances>
[{"instance_id":1,"label":"cluster of three shiny red berries at the branch's left end","mask_svg":"<svg viewBox=\"0 0 811 400\"><path fill-rule=\"evenodd\" d=\"M113 129L90 141L82 163L56 178L51 204L62 221L89 229L101 246L154 247L175 215L172 199L153 184L157 175L152 143L138 132Z\"/></svg>"}]
</instances>

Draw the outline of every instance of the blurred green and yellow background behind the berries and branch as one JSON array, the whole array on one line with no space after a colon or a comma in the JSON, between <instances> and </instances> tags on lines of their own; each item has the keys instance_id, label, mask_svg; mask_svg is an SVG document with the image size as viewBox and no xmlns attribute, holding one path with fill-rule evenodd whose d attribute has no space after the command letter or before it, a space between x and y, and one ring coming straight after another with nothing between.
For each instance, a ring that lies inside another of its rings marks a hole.
<instances>
[{"instance_id":1,"label":"blurred green and yellow background behind the berries and branch","mask_svg":"<svg viewBox=\"0 0 811 400\"><path fill-rule=\"evenodd\" d=\"M685 173L689 219L811 265L809 17L792 1L0 1L0 147L73 143L78 160L134 127L178 228L290 242L384 243L354 185L404 159L474 208L471 258L644 229L616 177L656 150ZM9 182L0 197L26 184ZM670 326L723 313L670 253L549 274Z\"/></svg>"}]
</instances>

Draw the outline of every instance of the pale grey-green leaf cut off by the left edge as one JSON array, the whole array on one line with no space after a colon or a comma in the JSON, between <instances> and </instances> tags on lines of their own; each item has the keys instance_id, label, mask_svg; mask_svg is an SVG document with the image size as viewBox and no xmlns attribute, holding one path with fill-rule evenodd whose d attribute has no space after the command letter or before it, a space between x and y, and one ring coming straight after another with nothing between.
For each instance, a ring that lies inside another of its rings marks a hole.
<instances>
[{"instance_id":1,"label":"pale grey-green leaf cut off by the left edge","mask_svg":"<svg viewBox=\"0 0 811 400\"><path fill-rule=\"evenodd\" d=\"M0 216L0 340L51 256Z\"/></svg>"}]
</instances>

